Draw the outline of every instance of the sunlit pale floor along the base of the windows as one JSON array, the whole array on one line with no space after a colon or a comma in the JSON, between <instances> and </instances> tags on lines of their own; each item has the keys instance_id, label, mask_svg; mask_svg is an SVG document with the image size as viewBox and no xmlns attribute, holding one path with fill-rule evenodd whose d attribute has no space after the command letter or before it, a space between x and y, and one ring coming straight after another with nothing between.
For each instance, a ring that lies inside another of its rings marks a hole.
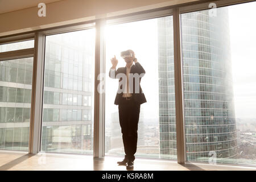
<instances>
[{"instance_id":1,"label":"sunlit pale floor along the base of the windows","mask_svg":"<svg viewBox=\"0 0 256 182\"><path fill-rule=\"evenodd\" d=\"M71 154L27 154L25 152L0 151L0 171L5 170L83 170L83 171L123 171L118 166L119 157L105 156L93 159L92 156ZM254 167L229 166L220 164L186 163L177 164L171 160L135 159L134 171L201 171L201 170L256 170Z\"/></svg>"}]
</instances>

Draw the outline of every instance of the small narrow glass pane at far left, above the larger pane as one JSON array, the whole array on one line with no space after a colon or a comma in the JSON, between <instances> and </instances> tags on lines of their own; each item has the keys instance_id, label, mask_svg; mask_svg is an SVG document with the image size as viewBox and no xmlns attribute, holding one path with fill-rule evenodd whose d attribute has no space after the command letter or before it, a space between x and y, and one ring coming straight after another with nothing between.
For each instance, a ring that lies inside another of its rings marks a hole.
<instances>
[{"instance_id":1,"label":"small narrow glass pane at far left, above the larger pane","mask_svg":"<svg viewBox=\"0 0 256 182\"><path fill-rule=\"evenodd\" d=\"M16 51L19 49L28 49L34 47L34 40L26 40L22 42L15 42L0 45L0 52Z\"/></svg>"}]
</instances>

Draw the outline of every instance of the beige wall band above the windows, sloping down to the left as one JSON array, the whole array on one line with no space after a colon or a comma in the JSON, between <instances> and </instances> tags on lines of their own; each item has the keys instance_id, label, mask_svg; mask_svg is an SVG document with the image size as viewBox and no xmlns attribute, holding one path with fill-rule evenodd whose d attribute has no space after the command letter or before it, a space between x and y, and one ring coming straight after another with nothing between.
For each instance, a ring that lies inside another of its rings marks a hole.
<instances>
[{"instance_id":1,"label":"beige wall band above the windows, sloping down to the left","mask_svg":"<svg viewBox=\"0 0 256 182\"><path fill-rule=\"evenodd\" d=\"M32 0L31 0L32 1ZM0 14L0 36L39 30L134 13L199 0L63 0L46 4L46 17L38 16L38 7ZM44 2L42 0L42 2ZM1 3L1 1L0 1ZM1 5L0 5L1 6Z\"/></svg>"}]
</instances>

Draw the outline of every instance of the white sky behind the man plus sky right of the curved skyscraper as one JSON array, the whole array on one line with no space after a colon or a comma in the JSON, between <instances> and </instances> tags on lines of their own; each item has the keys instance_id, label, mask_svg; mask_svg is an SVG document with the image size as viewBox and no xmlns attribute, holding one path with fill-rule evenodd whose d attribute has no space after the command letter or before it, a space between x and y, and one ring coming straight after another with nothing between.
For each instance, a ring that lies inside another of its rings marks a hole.
<instances>
[{"instance_id":1,"label":"white sky behind the man plus sky right of the curved skyscraper","mask_svg":"<svg viewBox=\"0 0 256 182\"><path fill-rule=\"evenodd\" d=\"M237 118L256 118L256 2L222 7L229 9L230 48L232 56L234 104ZM106 73L112 66L110 59L116 55L118 67L125 67L119 56L121 51L133 49L146 71L141 86L147 103L143 104L144 118L159 118L158 102L158 30L157 19L107 26ZM114 105L118 80L106 77L106 122Z\"/></svg>"}]
</instances>

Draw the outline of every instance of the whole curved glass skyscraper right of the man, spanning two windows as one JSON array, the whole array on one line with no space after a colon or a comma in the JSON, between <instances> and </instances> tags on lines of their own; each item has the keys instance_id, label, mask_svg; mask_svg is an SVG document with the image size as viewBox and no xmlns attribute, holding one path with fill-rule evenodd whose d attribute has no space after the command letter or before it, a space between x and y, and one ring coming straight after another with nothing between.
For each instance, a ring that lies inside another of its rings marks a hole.
<instances>
[{"instance_id":1,"label":"whole curved glass skyscraper right of the man, spanning two windows","mask_svg":"<svg viewBox=\"0 0 256 182\"><path fill-rule=\"evenodd\" d=\"M160 154L176 154L172 19L158 22ZM228 10L181 14L187 160L237 155ZM210 152L213 151L213 152ZM215 153L214 153L215 152Z\"/></svg>"}]
</instances>

